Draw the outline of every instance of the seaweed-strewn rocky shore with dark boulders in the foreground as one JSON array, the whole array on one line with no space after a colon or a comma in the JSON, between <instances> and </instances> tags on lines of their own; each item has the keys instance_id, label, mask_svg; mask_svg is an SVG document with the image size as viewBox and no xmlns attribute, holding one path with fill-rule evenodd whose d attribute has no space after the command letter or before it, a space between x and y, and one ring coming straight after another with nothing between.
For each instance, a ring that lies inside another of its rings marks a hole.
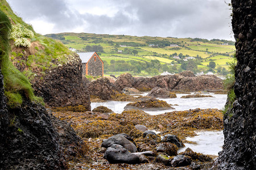
<instances>
[{"instance_id":1,"label":"seaweed-strewn rocky shore with dark boulders in the foreground","mask_svg":"<svg viewBox=\"0 0 256 170\"><path fill-rule=\"evenodd\" d=\"M52 113L69 122L89 146L88 154L79 162L68 162L71 169L208 169L213 167L214 157L189 148L178 154L177 149L188 142L185 137L196 135L196 130L223 128L222 112L217 109L175 111L156 116L139 110L121 114Z\"/></svg>"}]
</instances>

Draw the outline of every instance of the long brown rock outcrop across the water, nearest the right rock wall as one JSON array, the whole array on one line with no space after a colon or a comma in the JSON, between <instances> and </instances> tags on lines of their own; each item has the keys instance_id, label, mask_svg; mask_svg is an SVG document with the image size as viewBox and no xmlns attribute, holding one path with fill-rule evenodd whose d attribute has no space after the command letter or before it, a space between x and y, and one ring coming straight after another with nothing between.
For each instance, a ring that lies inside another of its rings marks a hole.
<instances>
[{"instance_id":1,"label":"long brown rock outcrop across the water, nearest the right rock wall","mask_svg":"<svg viewBox=\"0 0 256 170\"><path fill-rule=\"evenodd\" d=\"M204 90L222 90L223 82L217 76L187 76L180 80L177 86L174 87L174 90L180 91L204 91Z\"/></svg>"}]
</instances>

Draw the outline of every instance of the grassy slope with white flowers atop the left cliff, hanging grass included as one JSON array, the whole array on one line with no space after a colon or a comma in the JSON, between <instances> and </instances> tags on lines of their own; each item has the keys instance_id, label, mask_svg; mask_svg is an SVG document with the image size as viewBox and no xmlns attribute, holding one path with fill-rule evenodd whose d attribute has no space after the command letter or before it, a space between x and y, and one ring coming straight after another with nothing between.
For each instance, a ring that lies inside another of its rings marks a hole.
<instances>
[{"instance_id":1,"label":"grassy slope with white flowers atop the left cliff, hanging grass included","mask_svg":"<svg viewBox=\"0 0 256 170\"><path fill-rule=\"evenodd\" d=\"M16 107L24 99L43 103L34 95L31 81L43 79L47 70L67 62L71 51L61 42L36 33L5 0L0 2L0 64L9 106Z\"/></svg>"}]
</instances>

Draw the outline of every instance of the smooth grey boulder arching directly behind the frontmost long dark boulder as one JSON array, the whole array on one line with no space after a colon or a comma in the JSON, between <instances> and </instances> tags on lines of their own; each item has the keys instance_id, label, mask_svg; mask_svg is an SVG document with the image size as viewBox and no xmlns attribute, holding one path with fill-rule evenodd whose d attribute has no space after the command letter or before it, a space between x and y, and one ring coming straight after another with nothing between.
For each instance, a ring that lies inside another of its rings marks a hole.
<instances>
[{"instance_id":1,"label":"smooth grey boulder arching directly behind the frontmost long dark boulder","mask_svg":"<svg viewBox=\"0 0 256 170\"><path fill-rule=\"evenodd\" d=\"M122 135L114 135L113 137L105 139L101 144L101 146L105 148L113 147L113 145L121 145L130 152L137 152L137 147L134 145L134 143L130 142Z\"/></svg>"}]
</instances>

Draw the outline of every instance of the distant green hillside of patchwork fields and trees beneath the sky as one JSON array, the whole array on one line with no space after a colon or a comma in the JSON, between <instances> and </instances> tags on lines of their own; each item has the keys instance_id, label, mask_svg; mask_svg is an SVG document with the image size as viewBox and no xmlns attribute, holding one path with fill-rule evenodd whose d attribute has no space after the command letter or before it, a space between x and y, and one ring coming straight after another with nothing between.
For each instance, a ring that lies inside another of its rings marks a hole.
<instances>
[{"instance_id":1,"label":"distant green hillside of patchwork fields and trees beneath the sky","mask_svg":"<svg viewBox=\"0 0 256 170\"><path fill-rule=\"evenodd\" d=\"M179 73L191 70L194 73L213 71L225 75L228 73L228 62L232 61L235 51L233 41L218 39L94 33L57 33L45 36L60 40L77 52L96 51L105 63L105 74L129 72L134 75L154 75L163 71ZM180 59L175 59L174 56L179 56ZM184 61L188 57L195 59ZM155 63L152 60L156 60ZM209 62L214 62L216 66L213 67Z\"/></svg>"}]
</instances>

